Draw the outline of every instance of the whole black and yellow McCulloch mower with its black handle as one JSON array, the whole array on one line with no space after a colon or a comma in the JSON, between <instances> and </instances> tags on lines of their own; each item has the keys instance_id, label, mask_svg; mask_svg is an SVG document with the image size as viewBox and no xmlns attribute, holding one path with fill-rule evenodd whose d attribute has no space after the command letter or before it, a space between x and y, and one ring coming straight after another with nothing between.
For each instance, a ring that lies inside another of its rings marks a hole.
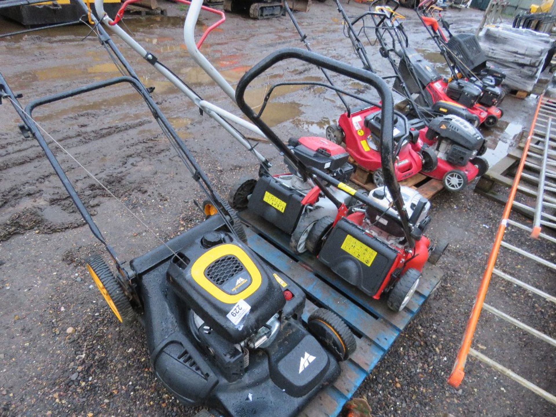
<instances>
[{"instance_id":1,"label":"whole black and yellow McCulloch mower with its black handle","mask_svg":"<svg viewBox=\"0 0 556 417\"><path fill-rule=\"evenodd\" d=\"M85 4L78 2L86 13ZM100 255L87 260L93 281L119 321L137 318L145 327L155 374L186 405L210 406L216 415L266 416L276 410L281 416L297 415L337 378L339 361L355 350L354 335L326 309L301 320L304 292L247 246L234 210L213 190L102 26L96 31L126 75L40 98L23 109L0 74L0 98L12 103L23 134L36 138L111 257L116 271ZM141 95L208 199L205 221L128 264L103 237L32 116L34 108L46 103L122 83Z\"/></svg>"}]
</instances>

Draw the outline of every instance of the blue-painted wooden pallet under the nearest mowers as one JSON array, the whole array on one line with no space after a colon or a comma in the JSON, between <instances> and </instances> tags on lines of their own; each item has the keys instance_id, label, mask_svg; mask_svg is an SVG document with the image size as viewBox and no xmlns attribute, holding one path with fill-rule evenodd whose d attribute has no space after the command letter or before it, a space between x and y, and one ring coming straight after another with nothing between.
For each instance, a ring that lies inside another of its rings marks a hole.
<instances>
[{"instance_id":1,"label":"blue-painted wooden pallet under the nearest mowers","mask_svg":"<svg viewBox=\"0 0 556 417\"><path fill-rule=\"evenodd\" d=\"M408 306L393 312L385 300L374 300L347 284L310 254L295 255L289 248L289 236L249 211L240 213L247 225L249 246L262 259L284 272L307 294L304 319L317 307L326 307L361 335L357 350L341 363L341 375L323 389L301 416L336 416L368 376L404 327L417 314L427 297L440 282L441 270L430 264Z\"/></svg>"}]
</instances>

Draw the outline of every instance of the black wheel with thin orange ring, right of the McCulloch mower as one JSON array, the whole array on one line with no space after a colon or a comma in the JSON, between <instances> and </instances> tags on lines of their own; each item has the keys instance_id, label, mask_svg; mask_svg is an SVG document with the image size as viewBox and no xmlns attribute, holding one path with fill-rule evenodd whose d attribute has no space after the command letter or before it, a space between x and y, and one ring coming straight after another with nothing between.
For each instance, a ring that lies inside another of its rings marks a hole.
<instances>
[{"instance_id":1,"label":"black wheel with thin orange ring, right of the McCulloch mower","mask_svg":"<svg viewBox=\"0 0 556 417\"><path fill-rule=\"evenodd\" d=\"M344 361L355 352L355 336L344 320L327 309L317 309L307 320L307 327L316 339L339 361Z\"/></svg>"}]
</instances>

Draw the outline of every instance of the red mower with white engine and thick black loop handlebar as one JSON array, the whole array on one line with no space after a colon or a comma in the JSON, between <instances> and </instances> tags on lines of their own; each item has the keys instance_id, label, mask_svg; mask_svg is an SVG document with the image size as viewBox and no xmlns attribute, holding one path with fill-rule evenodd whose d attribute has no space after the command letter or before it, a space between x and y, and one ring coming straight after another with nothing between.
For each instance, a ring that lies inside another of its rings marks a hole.
<instances>
[{"instance_id":1,"label":"red mower with white engine and thick black loop handlebar","mask_svg":"<svg viewBox=\"0 0 556 417\"><path fill-rule=\"evenodd\" d=\"M328 183L352 197L347 205L337 202L336 216L321 217L315 222L307 234L307 249L318 255L318 259L342 279L355 285L365 294L378 299L384 292L388 292L389 307L394 311L403 310L419 284L421 270L429 259L429 252L433 252L430 255L431 260L436 261L446 245L437 245L433 249L429 239L423 235L430 222L427 215L429 201L411 188L400 188L395 180L393 167L397 150L394 149L393 140L393 98L384 80L369 71L355 69L332 59L316 61L315 56L312 52L300 49L284 49L280 54L265 58L247 71L239 81L236 89L237 105L284 153L287 165L294 168L302 178L311 178L323 192L323 184ZM321 69L340 73L376 88L382 104L381 117L374 121L380 125L380 156L385 186L365 195L337 181L336 178L302 160L292 151L291 145L287 146L261 118L272 91L280 85L315 85L330 88L344 97L364 99L334 85L319 82L282 82L269 89L259 113L255 113L247 105L245 91L250 83L267 69L287 58L301 59ZM399 120L403 121L403 118ZM245 197L248 200L247 207L252 211L259 209L251 205L254 194L255 192ZM280 211L279 207L274 207L274 210Z\"/></svg>"}]
</instances>

